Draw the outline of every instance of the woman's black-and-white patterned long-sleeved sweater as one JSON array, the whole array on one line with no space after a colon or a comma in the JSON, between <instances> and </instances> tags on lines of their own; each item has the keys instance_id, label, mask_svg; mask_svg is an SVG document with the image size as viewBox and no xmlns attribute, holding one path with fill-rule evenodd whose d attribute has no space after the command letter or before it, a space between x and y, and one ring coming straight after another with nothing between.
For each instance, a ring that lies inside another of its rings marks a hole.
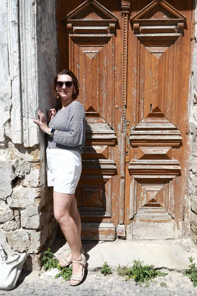
<instances>
[{"instance_id":1,"label":"woman's black-and-white patterned long-sleeved sweater","mask_svg":"<svg viewBox=\"0 0 197 296\"><path fill-rule=\"evenodd\" d=\"M57 132L48 136L48 148L76 150L80 154L85 145L85 111L78 101L70 103L63 111L59 110L49 122L49 127Z\"/></svg>"}]
</instances>

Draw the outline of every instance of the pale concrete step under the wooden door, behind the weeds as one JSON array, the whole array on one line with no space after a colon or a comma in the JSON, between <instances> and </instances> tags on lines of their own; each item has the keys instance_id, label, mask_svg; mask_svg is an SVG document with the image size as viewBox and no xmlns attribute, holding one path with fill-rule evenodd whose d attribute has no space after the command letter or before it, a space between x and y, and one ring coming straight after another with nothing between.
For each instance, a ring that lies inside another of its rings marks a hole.
<instances>
[{"instance_id":1,"label":"pale concrete step under the wooden door, behind the weeds","mask_svg":"<svg viewBox=\"0 0 197 296\"><path fill-rule=\"evenodd\" d=\"M111 267L118 267L119 264L131 266L134 259L139 259L144 264L183 271L190 264L189 257L192 256L197 262L197 246L190 239L83 241L82 245L89 270L97 270L104 261ZM64 239L56 239L51 251L60 259L70 250Z\"/></svg>"}]
</instances>

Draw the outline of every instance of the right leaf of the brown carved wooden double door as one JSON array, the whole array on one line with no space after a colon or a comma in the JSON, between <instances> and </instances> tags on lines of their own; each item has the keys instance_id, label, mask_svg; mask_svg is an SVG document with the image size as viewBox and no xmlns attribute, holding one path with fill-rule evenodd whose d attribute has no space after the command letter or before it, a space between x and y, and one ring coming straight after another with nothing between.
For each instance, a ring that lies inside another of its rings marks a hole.
<instances>
[{"instance_id":1,"label":"right leaf of the brown carved wooden double door","mask_svg":"<svg viewBox=\"0 0 197 296\"><path fill-rule=\"evenodd\" d=\"M191 11L191 0L131 0L126 209L132 239L188 234Z\"/></svg>"}]
</instances>

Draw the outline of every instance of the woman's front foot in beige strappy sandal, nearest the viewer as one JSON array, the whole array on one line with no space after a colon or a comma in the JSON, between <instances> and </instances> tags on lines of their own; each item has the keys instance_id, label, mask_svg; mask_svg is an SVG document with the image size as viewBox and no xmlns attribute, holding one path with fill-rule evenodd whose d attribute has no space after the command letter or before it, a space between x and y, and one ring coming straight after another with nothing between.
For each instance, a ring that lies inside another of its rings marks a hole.
<instances>
[{"instance_id":1,"label":"woman's front foot in beige strappy sandal, nearest the viewer","mask_svg":"<svg viewBox=\"0 0 197 296\"><path fill-rule=\"evenodd\" d=\"M80 260L72 260L72 276L70 286L76 286L81 283L85 273L86 258L81 254Z\"/></svg>"}]
</instances>

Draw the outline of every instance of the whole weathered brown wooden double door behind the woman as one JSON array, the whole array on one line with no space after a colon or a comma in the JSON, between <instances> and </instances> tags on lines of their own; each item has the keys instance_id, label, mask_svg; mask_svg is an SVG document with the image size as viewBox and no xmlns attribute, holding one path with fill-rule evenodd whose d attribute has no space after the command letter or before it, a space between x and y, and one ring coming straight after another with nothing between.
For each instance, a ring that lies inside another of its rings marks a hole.
<instances>
[{"instance_id":1,"label":"whole weathered brown wooden double door behind the woman","mask_svg":"<svg viewBox=\"0 0 197 296\"><path fill-rule=\"evenodd\" d=\"M60 70L87 120L84 239L187 235L192 0L58 0Z\"/></svg>"}]
</instances>

